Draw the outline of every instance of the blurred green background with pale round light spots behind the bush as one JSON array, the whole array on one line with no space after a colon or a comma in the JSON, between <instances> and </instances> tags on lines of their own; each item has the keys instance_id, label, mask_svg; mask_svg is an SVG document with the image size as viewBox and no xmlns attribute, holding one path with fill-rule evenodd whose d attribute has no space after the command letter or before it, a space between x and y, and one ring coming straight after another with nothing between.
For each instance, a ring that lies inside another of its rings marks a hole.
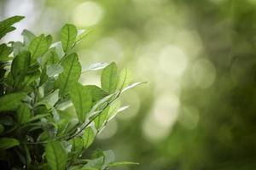
<instances>
[{"instance_id":1,"label":"blurred green background with pale round light spots behind the bush","mask_svg":"<svg viewBox=\"0 0 256 170\"><path fill-rule=\"evenodd\" d=\"M119 169L256 169L256 0L0 1L0 19L16 14L26 19L6 41L92 28L77 47L84 68L115 61L148 81L92 146L140 163Z\"/></svg>"}]
</instances>

